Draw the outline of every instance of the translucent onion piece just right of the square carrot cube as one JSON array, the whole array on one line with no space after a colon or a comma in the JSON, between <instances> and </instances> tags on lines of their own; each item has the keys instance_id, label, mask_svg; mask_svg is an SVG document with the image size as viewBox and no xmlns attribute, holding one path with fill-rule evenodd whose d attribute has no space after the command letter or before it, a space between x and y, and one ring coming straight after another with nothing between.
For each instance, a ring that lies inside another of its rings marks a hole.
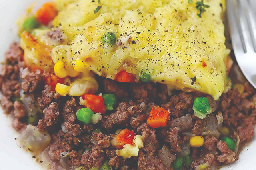
<instances>
[{"instance_id":1,"label":"translucent onion piece just right of the square carrot cube","mask_svg":"<svg viewBox=\"0 0 256 170\"><path fill-rule=\"evenodd\" d=\"M189 130L192 128L192 126L193 126L193 122L190 114L187 114L186 116L177 118L170 122L170 127L172 128L177 127L180 132L184 130Z\"/></svg>"}]
</instances>

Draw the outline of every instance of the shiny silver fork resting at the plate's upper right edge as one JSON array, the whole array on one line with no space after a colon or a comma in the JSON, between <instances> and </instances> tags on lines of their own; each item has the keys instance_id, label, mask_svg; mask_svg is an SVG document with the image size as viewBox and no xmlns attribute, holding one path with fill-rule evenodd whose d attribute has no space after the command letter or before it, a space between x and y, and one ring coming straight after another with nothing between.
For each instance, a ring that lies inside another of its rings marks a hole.
<instances>
[{"instance_id":1,"label":"shiny silver fork resting at the plate's upper right edge","mask_svg":"<svg viewBox=\"0 0 256 170\"><path fill-rule=\"evenodd\" d=\"M226 0L226 4L236 60L256 88L256 0Z\"/></svg>"}]
</instances>

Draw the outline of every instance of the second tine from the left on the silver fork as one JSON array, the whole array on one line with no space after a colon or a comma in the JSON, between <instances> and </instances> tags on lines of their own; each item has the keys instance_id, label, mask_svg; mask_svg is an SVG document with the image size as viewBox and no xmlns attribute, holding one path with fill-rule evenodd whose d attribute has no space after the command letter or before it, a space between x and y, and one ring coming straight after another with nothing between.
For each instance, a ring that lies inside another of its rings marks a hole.
<instances>
[{"instance_id":1,"label":"second tine from the left on the silver fork","mask_svg":"<svg viewBox=\"0 0 256 170\"><path fill-rule=\"evenodd\" d=\"M250 14L248 0L238 0L238 12L246 52L255 52L253 45L255 38L252 34L252 16Z\"/></svg>"}]
</instances>

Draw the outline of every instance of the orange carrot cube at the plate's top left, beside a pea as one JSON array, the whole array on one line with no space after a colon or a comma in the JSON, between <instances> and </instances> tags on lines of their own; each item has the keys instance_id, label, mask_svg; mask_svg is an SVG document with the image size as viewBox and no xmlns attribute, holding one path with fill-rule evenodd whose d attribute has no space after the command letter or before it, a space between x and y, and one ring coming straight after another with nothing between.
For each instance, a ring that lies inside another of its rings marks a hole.
<instances>
[{"instance_id":1,"label":"orange carrot cube at the plate's top left, beside a pea","mask_svg":"<svg viewBox=\"0 0 256 170\"><path fill-rule=\"evenodd\" d=\"M37 12L37 20L44 24L48 25L58 15L58 11L52 3L45 3Z\"/></svg>"}]
</instances>

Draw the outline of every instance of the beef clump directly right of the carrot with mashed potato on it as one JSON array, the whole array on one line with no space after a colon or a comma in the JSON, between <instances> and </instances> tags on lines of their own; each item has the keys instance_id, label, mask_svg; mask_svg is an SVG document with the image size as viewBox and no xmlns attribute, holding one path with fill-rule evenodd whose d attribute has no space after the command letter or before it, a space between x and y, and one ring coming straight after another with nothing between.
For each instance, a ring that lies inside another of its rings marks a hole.
<instances>
[{"instance_id":1,"label":"beef clump directly right of the carrot with mashed potato on it","mask_svg":"<svg viewBox=\"0 0 256 170\"><path fill-rule=\"evenodd\" d=\"M148 154L153 155L159 146L158 141L156 140L156 131L150 128L146 123L138 127L137 130L138 133L141 133L142 140L144 141L144 147L142 149L148 152Z\"/></svg>"}]
</instances>

